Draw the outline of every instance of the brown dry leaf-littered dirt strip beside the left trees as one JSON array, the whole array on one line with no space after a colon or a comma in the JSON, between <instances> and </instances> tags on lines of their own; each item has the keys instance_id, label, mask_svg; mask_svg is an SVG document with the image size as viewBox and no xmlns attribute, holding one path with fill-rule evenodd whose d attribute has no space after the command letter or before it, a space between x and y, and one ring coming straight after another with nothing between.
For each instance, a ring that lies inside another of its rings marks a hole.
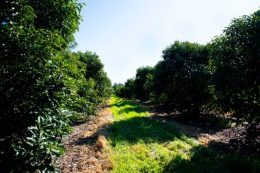
<instances>
[{"instance_id":1,"label":"brown dry leaf-littered dirt strip beside the left trees","mask_svg":"<svg viewBox=\"0 0 260 173\"><path fill-rule=\"evenodd\" d=\"M113 122L112 113L105 107L99 116L77 124L64 140L66 154L57 163L60 172L108 172L112 169L107 146L107 127Z\"/></svg>"}]
</instances>

